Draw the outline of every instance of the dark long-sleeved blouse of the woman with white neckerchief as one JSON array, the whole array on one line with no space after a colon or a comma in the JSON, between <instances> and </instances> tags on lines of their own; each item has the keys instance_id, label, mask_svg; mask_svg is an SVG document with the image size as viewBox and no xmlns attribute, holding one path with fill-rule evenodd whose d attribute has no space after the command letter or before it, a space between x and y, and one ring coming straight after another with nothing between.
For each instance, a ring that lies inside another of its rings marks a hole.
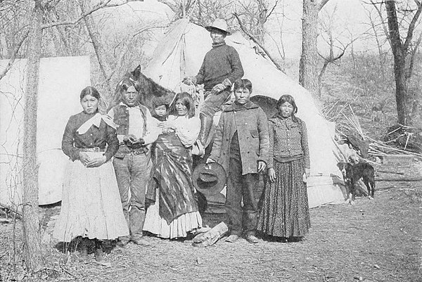
<instances>
[{"instance_id":1,"label":"dark long-sleeved blouse of the woman with white neckerchief","mask_svg":"<svg viewBox=\"0 0 422 282\"><path fill-rule=\"evenodd\" d=\"M84 112L72 115L66 124L65 133L62 139L63 153L69 156L73 161L79 160L81 148L95 148L106 150L106 159L110 160L119 148L116 130L101 120L100 127L92 125L84 134L78 134L77 129L94 115L88 115Z\"/></svg>"}]
</instances>

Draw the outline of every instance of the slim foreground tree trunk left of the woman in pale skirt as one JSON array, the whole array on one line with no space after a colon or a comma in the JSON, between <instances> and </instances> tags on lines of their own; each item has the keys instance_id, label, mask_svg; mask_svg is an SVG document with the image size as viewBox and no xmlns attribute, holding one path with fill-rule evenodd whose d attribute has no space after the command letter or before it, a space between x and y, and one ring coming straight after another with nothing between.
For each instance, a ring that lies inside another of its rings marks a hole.
<instances>
[{"instance_id":1,"label":"slim foreground tree trunk left of the woman in pale skirt","mask_svg":"<svg viewBox=\"0 0 422 282\"><path fill-rule=\"evenodd\" d=\"M38 217L37 99L41 53L42 11L35 0L27 51L27 84L23 119L23 239L26 268L44 267Z\"/></svg>"}]
</instances>

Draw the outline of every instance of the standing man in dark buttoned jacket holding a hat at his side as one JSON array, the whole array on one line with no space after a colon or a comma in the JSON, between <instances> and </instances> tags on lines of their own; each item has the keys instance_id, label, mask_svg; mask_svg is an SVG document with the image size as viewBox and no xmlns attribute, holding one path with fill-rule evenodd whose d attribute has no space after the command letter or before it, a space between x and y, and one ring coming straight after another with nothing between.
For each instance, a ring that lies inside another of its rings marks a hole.
<instances>
[{"instance_id":1,"label":"standing man in dark buttoned jacket holding a hat at his side","mask_svg":"<svg viewBox=\"0 0 422 282\"><path fill-rule=\"evenodd\" d=\"M257 243L258 179L269 158L267 116L249 98L252 83L238 79L234 83L236 100L225 108L215 132L207 162L218 162L226 170L226 212L231 235L236 241L242 232L249 243ZM243 202L243 206L241 203Z\"/></svg>"}]
</instances>

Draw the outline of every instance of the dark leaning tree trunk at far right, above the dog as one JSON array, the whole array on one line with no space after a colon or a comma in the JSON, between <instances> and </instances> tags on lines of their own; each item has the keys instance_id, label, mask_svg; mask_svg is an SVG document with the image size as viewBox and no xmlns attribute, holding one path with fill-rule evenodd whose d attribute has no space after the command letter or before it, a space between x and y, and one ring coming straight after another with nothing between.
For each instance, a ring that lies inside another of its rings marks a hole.
<instances>
[{"instance_id":1,"label":"dark leaning tree trunk at far right, above the dog","mask_svg":"<svg viewBox=\"0 0 422 282\"><path fill-rule=\"evenodd\" d=\"M394 56L394 75L396 83L396 103L397 117L399 124L411 124L411 103L407 94L407 77L406 77L406 50L400 39L399 24L395 1L385 1L387 10L388 30L390 33L390 42L392 55Z\"/></svg>"}]
</instances>

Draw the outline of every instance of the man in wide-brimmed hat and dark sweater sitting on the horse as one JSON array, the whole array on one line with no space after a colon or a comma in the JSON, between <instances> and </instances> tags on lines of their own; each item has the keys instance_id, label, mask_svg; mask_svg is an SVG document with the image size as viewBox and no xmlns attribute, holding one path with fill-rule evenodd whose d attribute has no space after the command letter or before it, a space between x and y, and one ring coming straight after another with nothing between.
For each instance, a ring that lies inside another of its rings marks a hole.
<instances>
[{"instance_id":1,"label":"man in wide-brimmed hat and dark sweater sitting on the horse","mask_svg":"<svg viewBox=\"0 0 422 282\"><path fill-rule=\"evenodd\" d=\"M185 84L204 84L205 101L200 110L201 127L198 136L200 149L208 145L212 118L230 96L231 84L243 77L243 67L238 52L224 41L226 36L231 34L226 21L217 19L205 29L210 32L212 49L205 54L198 75L184 79ZM199 155L203 153L203 150L200 150Z\"/></svg>"}]
</instances>

